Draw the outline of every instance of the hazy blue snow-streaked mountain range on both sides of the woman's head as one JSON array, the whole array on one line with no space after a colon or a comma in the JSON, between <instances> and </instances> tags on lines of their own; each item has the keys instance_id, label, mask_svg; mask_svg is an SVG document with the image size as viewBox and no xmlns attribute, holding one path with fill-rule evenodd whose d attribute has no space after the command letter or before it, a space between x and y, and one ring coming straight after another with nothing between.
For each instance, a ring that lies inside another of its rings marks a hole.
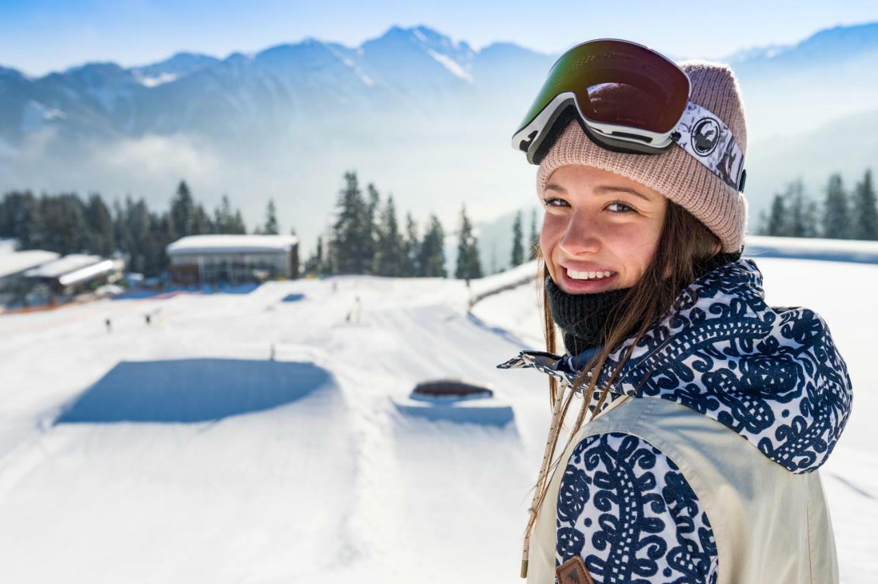
<instances>
[{"instance_id":1,"label":"hazy blue snow-streaked mountain range on both sides of the woman's head","mask_svg":"<svg viewBox=\"0 0 878 584\"><path fill-rule=\"evenodd\" d=\"M421 221L433 211L452 230L464 201L491 221L532 200L534 169L508 138L556 57L511 43L475 50L427 26L393 26L354 47L303 39L39 78L0 68L0 192L100 190L163 206L185 178L209 205L227 193L251 224L273 196L307 250L342 172L355 168ZM766 167L763 153L773 153L770 173L748 172L753 216L779 183L807 170L775 152L878 110L878 23L724 61L744 91L748 166ZM846 149L878 160L871 135L847 134ZM848 160L822 154L826 167Z\"/></svg>"}]
</instances>

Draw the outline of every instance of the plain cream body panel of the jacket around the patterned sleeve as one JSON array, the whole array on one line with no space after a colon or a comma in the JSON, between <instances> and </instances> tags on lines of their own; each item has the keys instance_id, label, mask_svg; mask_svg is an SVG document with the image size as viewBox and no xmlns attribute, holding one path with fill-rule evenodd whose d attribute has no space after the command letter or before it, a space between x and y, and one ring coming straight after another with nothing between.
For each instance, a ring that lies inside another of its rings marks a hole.
<instances>
[{"instance_id":1,"label":"plain cream body panel of the jacket around the patterned sleeve","mask_svg":"<svg viewBox=\"0 0 878 584\"><path fill-rule=\"evenodd\" d=\"M713 529L717 584L838 582L819 471L793 474L723 424L679 403L624 396L584 424L565 449L530 540L528 584L555 582L561 477L576 445L605 432L643 438L680 467Z\"/></svg>"}]
</instances>

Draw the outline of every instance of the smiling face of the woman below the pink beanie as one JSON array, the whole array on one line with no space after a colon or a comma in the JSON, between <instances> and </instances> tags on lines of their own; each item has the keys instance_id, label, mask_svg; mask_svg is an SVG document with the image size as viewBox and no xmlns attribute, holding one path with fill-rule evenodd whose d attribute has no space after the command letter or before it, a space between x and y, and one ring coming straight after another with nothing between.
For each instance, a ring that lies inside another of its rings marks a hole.
<instances>
[{"instance_id":1,"label":"smiling face of the woman below the pink beanie","mask_svg":"<svg viewBox=\"0 0 878 584\"><path fill-rule=\"evenodd\" d=\"M576 164L551 174L543 206L540 246L551 279L567 294L589 294L630 288L644 274L667 199L621 174Z\"/></svg>"}]
</instances>

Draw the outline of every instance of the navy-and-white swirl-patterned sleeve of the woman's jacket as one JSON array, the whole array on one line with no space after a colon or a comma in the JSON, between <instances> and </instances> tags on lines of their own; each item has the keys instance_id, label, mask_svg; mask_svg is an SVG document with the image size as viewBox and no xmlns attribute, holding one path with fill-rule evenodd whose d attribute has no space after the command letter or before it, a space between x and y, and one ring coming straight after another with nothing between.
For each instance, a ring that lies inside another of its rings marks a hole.
<instances>
[{"instance_id":1,"label":"navy-and-white swirl-patterned sleeve of the woman's jacket","mask_svg":"<svg viewBox=\"0 0 878 584\"><path fill-rule=\"evenodd\" d=\"M558 491L555 565L579 555L595 584L714 584L708 516L664 453L608 432L573 449Z\"/></svg>"}]
</instances>

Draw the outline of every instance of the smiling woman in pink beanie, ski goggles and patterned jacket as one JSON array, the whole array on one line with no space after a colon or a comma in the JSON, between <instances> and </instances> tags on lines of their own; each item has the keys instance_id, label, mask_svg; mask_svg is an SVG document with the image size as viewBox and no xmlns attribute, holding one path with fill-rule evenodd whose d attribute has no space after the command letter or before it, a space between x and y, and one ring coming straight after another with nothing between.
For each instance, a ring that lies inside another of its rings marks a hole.
<instances>
[{"instance_id":1,"label":"smiling woman in pink beanie, ski goggles and patterned jacket","mask_svg":"<svg viewBox=\"0 0 878 584\"><path fill-rule=\"evenodd\" d=\"M838 581L816 471L851 381L823 319L767 306L741 259L746 125L730 68L584 43L514 145L539 165L548 352L498 367L549 374L553 412L522 577Z\"/></svg>"}]
</instances>

